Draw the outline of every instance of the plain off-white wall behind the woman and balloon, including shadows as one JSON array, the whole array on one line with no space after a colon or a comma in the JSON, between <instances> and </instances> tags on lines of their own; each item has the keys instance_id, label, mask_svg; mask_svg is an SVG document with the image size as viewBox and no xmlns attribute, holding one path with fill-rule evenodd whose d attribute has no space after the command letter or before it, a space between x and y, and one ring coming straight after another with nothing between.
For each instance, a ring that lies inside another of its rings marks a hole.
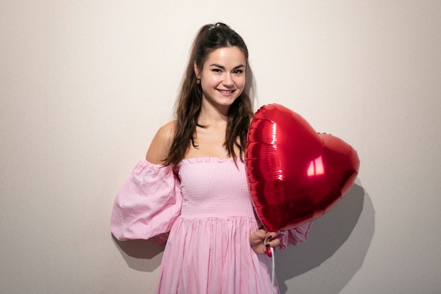
<instances>
[{"instance_id":1,"label":"plain off-white wall behind the woman and balloon, including shadows","mask_svg":"<svg viewBox=\"0 0 441 294\"><path fill-rule=\"evenodd\" d=\"M0 293L154 293L163 247L113 199L173 118L201 25L244 37L258 101L359 153L277 251L282 293L441 293L441 1L0 1Z\"/></svg>"}]
</instances>

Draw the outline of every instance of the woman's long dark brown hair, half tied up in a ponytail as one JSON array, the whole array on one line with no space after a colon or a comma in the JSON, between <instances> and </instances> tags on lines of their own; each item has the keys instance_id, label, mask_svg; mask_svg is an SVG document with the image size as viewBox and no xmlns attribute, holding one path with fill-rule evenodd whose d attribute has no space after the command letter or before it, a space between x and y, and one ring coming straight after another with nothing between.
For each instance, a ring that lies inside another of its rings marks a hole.
<instances>
[{"instance_id":1,"label":"woman's long dark brown hair, half tied up in a ponytail","mask_svg":"<svg viewBox=\"0 0 441 294\"><path fill-rule=\"evenodd\" d=\"M245 87L242 94L230 106L225 134L225 149L228 156L236 159L239 155L243 161L247 131L253 116L254 78L248 62L247 45L242 37L228 25L216 23L202 26L192 44L190 59L175 104L175 118L178 123L176 123L173 142L164 163L166 165L178 164L185 157L190 144L194 145L193 135L196 132L202 104L202 89L197 83L194 63L198 68L203 68L209 54L223 47L239 48L247 60ZM240 142L237 142L238 137ZM240 154L235 154L235 146L240 148Z\"/></svg>"}]
</instances>

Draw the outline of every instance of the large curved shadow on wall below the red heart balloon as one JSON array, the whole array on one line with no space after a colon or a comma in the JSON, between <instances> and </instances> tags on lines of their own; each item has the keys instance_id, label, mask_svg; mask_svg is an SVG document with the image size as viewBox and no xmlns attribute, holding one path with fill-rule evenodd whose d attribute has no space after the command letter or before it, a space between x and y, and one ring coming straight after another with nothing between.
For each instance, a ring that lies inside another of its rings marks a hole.
<instances>
[{"instance_id":1,"label":"large curved shadow on wall below the red heart balloon","mask_svg":"<svg viewBox=\"0 0 441 294\"><path fill-rule=\"evenodd\" d=\"M355 183L333 209L313 221L306 243L275 252L280 293L287 293L285 281L317 267L302 283L294 279L290 293L340 293L363 264L374 224L371 199Z\"/></svg>"}]
</instances>

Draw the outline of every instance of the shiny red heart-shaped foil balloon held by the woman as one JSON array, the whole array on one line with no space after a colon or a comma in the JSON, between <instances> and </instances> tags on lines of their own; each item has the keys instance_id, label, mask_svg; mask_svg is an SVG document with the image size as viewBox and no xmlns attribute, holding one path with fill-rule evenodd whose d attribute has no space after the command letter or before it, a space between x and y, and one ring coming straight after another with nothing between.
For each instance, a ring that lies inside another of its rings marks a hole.
<instances>
[{"instance_id":1,"label":"shiny red heart-shaped foil balloon held by the woman","mask_svg":"<svg viewBox=\"0 0 441 294\"><path fill-rule=\"evenodd\" d=\"M254 210L268 231L297 228L328 212L352 187L356 150L316 133L280 104L256 111L247 135L245 166Z\"/></svg>"}]
</instances>

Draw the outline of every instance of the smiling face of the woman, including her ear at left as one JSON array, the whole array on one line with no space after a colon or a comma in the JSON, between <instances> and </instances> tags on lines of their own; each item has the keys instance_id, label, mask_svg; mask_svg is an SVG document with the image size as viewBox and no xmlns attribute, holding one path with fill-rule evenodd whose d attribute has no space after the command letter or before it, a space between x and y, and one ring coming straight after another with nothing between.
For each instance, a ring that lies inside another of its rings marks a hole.
<instances>
[{"instance_id":1,"label":"smiling face of the woman, including her ear at left","mask_svg":"<svg viewBox=\"0 0 441 294\"><path fill-rule=\"evenodd\" d=\"M209 54L201 71L194 72L201 80L203 102L227 108L235 102L245 87L247 59L238 47L222 47Z\"/></svg>"}]
</instances>

